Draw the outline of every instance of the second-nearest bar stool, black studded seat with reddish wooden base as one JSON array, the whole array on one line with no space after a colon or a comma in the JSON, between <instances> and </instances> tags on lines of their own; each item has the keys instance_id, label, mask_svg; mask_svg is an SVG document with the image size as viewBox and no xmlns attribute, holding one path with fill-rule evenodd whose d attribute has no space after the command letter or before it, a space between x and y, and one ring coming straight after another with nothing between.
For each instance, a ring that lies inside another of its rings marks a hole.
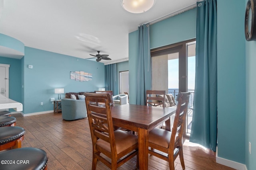
<instances>
[{"instance_id":1,"label":"second-nearest bar stool, black studded seat with reddish wooden base","mask_svg":"<svg viewBox=\"0 0 256 170\"><path fill-rule=\"evenodd\" d=\"M23 127L0 127L0 150L21 148L25 132Z\"/></svg>"}]
</instances>

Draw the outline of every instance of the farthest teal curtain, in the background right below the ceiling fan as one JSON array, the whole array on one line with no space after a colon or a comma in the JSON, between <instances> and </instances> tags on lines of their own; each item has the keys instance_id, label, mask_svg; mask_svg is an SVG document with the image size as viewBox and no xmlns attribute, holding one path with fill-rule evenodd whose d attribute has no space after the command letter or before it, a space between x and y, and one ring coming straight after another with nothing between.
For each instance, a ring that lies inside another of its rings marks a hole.
<instances>
[{"instance_id":1,"label":"farthest teal curtain, in the background right below the ceiling fan","mask_svg":"<svg viewBox=\"0 0 256 170\"><path fill-rule=\"evenodd\" d=\"M113 95L118 95L118 79L116 63L105 65L106 90L112 90Z\"/></svg>"}]
</instances>

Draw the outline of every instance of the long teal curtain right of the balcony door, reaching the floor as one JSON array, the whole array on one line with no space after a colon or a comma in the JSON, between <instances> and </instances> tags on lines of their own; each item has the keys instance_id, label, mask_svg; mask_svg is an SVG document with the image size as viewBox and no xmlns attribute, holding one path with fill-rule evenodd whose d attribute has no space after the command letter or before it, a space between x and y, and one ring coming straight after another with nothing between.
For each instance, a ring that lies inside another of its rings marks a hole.
<instances>
[{"instance_id":1,"label":"long teal curtain right of the balcony door, reaching the floor","mask_svg":"<svg viewBox=\"0 0 256 170\"><path fill-rule=\"evenodd\" d=\"M217 2L197 2L196 78L190 141L216 151Z\"/></svg>"}]
</instances>

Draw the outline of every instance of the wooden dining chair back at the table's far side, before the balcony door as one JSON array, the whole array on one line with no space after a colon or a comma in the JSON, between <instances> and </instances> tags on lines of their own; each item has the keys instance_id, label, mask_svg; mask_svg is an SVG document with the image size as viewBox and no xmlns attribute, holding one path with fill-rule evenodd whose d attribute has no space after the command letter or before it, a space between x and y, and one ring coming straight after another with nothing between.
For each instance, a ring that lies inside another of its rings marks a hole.
<instances>
[{"instance_id":1,"label":"wooden dining chair back at the table's far side, before the balcony door","mask_svg":"<svg viewBox=\"0 0 256 170\"><path fill-rule=\"evenodd\" d=\"M165 90L146 90L146 105L165 107Z\"/></svg>"}]
</instances>

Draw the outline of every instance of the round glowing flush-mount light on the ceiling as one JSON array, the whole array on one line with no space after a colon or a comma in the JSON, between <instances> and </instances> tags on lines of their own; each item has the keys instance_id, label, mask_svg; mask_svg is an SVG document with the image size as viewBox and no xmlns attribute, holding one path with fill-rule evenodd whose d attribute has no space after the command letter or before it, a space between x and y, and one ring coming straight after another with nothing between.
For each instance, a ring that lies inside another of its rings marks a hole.
<instances>
[{"instance_id":1,"label":"round glowing flush-mount light on the ceiling","mask_svg":"<svg viewBox=\"0 0 256 170\"><path fill-rule=\"evenodd\" d=\"M154 0L121 0L122 7L131 13L146 12L154 5Z\"/></svg>"}]
</instances>

